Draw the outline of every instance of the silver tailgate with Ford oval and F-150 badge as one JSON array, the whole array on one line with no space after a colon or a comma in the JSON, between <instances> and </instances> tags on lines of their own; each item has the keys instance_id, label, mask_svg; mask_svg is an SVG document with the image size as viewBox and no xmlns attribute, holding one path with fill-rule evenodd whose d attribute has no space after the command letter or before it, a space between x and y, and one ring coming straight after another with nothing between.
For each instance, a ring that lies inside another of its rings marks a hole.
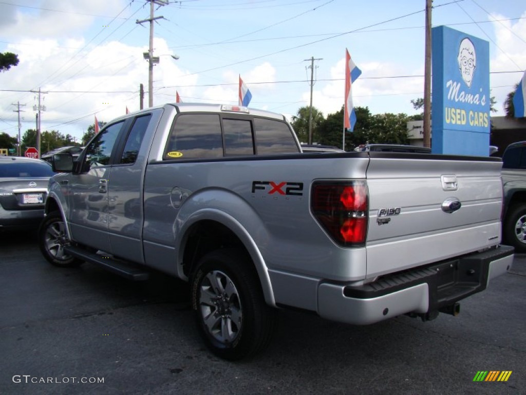
<instances>
[{"instance_id":1,"label":"silver tailgate with Ford oval and F-150 badge","mask_svg":"<svg viewBox=\"0 0 526 395\"><path fill-rule=\"evenodd\" d=\"M497 245L499 159L371 153L367 277Z\"/></svg>"}]
</instances>

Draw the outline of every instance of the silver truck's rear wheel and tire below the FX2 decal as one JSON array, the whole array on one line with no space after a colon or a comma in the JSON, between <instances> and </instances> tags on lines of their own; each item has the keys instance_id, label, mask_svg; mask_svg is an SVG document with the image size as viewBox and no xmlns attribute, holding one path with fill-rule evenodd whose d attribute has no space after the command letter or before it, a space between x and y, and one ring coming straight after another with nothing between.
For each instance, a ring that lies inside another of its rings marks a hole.
<instances>
[{"instance_id":1,"label":"silver truck's rear wheel and tire below the FX2 decal","mask_svg":"<svg viewBox=\"0 0 526 395\"><path fill-rule=\"evenodd\" d=\"M264 349L276 323L250 258L237 249L206 254L192 277L191 302L207 347L239 360Z\"/></svg>"}]
</instances>

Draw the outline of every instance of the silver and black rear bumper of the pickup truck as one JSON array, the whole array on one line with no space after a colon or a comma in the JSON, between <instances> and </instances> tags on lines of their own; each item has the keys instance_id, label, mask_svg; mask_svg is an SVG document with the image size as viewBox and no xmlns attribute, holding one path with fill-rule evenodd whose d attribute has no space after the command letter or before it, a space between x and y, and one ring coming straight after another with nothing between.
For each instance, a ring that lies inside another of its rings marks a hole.
<instances>
[{"instance_id":1,"label":"silver and black rear bumper of the pickup truck","mask_svg":"<svg viewBox=\"0 0 526 395\"><path fill-rule=\"evenodd\" d=\"M464 255L423 268L383 276L361 287L322 283L321 317L350 324L371 324L400 314L433 314L483 291L513 263L513 247Z\"/></svg>"}]
</instances>

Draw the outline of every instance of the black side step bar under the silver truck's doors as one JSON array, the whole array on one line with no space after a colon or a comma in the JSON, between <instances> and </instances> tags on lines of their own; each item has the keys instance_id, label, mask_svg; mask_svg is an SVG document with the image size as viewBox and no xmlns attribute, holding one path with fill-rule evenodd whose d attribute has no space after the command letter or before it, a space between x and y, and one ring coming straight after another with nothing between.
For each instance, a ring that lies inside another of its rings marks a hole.
<instances>
[{"instance_id":1,"label":"black side step bar under the silver truck's doors","mask_svg":"<svg viewBox=\"0 0 526 395\"><path fill-rule=\"evenodd\" d=\"M111 255L89 252L73 245L64 247L64 250L75 258L98 264L104 269L131 281L145 281L149 278L149 272L146 269L133 263L117 260Z\"/></svg>"}]
</instances>

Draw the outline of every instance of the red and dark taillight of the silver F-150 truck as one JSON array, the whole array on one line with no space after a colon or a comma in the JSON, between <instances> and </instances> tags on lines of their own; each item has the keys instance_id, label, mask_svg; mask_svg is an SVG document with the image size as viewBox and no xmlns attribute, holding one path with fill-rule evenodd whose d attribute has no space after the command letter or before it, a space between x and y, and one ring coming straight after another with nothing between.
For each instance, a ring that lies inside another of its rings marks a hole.
<instances>
[{"instance_id":1,"label":"red and dark taillight of the silver F-150 truck","mask_svg":"<svg viewBox=\"0 0 526 395\"><path fill-rule=\"evenodd\" d=\"M368 224L365 181L315 182L311 191L311 211L339 245L365 245Z\"/></svg>"}]
</instances>

